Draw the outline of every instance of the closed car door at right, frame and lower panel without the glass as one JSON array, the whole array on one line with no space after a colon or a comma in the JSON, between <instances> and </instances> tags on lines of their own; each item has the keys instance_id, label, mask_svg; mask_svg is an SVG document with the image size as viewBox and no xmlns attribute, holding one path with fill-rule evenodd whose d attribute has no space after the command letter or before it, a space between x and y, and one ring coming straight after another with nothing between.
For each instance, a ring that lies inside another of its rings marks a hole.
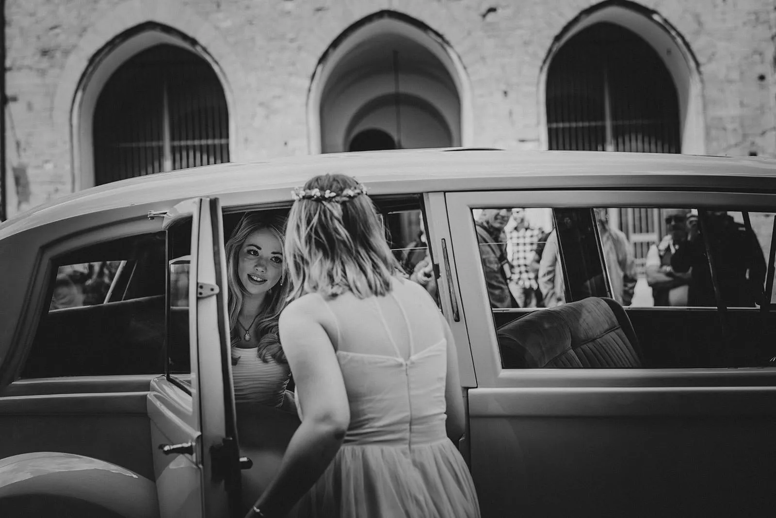
<instances>
[{"instance_id":1,"label":"closed car door at right, frame and lower panel without the glass","mask_svg":"<svg viewBox=\"0 0 776 518\"><path fill-rule=\"evenodd\" d=\"M472 209L654 206L653 192L446 200L456 268L476 278L460 286L477 375L468 439L483 516L766 516L776 369L501 368ZM776 196L673 191L660 192L658 205L756 210L776 206Z\"/></svg>"}]
</instances>

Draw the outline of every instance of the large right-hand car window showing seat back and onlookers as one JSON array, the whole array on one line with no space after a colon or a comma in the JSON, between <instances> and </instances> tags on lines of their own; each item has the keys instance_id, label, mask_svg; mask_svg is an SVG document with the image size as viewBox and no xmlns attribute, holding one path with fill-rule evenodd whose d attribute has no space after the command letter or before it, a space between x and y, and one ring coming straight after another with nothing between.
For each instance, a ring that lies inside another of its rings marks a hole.
<instances>
[{"instance_id":1,"label":"large right-hand car window showing seat back and onlookers","mask_svg":"<svg viewBox=\"0 0 776 518\"><path fill-rule=\"evenodd\" d=\"M733 209L475 209L502 367L771 365L774 212Z\"/></svg>"}]
</instances>

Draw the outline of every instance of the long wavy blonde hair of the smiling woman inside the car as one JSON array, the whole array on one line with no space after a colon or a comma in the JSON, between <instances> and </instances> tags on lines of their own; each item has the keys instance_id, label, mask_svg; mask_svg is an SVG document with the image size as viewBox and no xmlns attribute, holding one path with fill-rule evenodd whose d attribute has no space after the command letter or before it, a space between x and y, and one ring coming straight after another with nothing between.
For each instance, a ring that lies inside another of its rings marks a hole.
<instances>
[{"instance_id":1,"label":"long wavy blonde hair of the smiling woman inside the car","mask_svg":"<svg viewBox=\"0 0 776 518\"><path fill-rule=\"evenodd\" d=\"M247 293L237 273L237 262L240 260L240 250L245 243L245 240L248 239L248 236L260 229L269 230L272 235L278 238L282 245L285 226L286 218L282 216L262 214L262 212L247 212L242 219L240 219L240 223L237 223L237 226L234 227L231 237L227 240L225 251L227 256L227 284L229 285L229 330L233 347L240 342L241 337L243 336L242 330L238 329L237 317L240 316L243 296ZM284 257L280 281L278 284L272 286L267 292L264 307L262 308L261 316L259 316L256 325L256 332L260 337L258 340L257 354L265 363L269 361L269 358L280 363L286 363L286 354L283 353L280 345L278 319L280 317L280 312L286 307L286 301L289 298L287 271L286 259ZM232 360L233 363L236 363L236 361L234 361L235 357L233 357Z\"/></svg>"}]
</instances>

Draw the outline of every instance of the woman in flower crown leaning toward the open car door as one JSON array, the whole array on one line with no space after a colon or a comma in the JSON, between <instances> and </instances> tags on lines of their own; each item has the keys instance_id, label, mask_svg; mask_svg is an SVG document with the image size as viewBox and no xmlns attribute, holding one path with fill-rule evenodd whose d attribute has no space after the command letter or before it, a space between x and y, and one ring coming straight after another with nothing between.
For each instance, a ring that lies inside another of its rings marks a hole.
<instances>
[{"instance_id":1,"label":"woman in flower crown leaning toward the open car door","mask_svg":"<svg viewBox=\"0 0 776 518\"><path fill-rule=\"evenodd\" d=\"M401 274L355 179L317 176L295 198L280 336L302 423L248 516L480 516L454 444L463 402L445 319Z\"/></svg>"}]
</instances>

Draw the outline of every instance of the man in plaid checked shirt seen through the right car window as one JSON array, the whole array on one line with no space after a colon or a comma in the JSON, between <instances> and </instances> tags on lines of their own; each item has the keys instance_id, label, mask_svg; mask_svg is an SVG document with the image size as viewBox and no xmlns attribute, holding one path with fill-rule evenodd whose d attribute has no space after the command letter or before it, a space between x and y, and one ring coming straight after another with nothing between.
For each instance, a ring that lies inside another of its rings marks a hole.
<instances>
[{"instance_id":1,"label":"man in plaid checked shirt seen through the right car window","mask_svg":"<svg viewBox=\"0 0 776 518\"><path fill-rule=\"evenodd\" d=\"M512 265L510 288L521 308L536 307L542 297L532 263L544 231L528 225L524 209L512 209L512 221L514 226L510 225L507 232L507 257Z\"/></svg>"}]
</instances>

